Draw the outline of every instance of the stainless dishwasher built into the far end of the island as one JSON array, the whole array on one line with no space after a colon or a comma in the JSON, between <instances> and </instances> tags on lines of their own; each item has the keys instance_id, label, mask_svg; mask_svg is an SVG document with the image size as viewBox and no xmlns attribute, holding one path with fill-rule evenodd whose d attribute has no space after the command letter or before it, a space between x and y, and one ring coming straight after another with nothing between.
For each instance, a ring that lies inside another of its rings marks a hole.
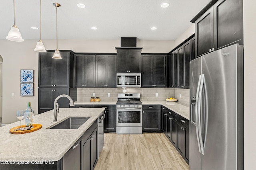
<instances>
[{"instance_id":1,"label":"stainless dishwasher built into the far end of the island","mask_svg":"<svg viewBox=\"0 0 256 170\"><path fill-rule=\"evenodd\" d=\"M104 111L106 113L106 111ZM100 152L104 147L104 118L105 114L102 113L98 117L98 158L100 156Z\"/></svg>"}]
</instances>

